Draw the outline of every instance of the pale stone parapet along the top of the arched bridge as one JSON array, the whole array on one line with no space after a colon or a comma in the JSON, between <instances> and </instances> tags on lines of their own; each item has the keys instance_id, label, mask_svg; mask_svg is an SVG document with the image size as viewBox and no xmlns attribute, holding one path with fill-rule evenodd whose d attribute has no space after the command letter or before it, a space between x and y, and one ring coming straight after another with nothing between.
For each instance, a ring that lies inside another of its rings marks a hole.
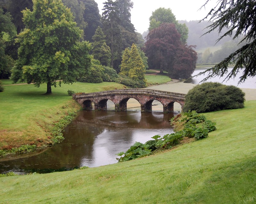
<instances>
[{"instance_id":1,"label":"pale stone parapet along the top of the arched bridge","mask_svg":"<svg viewBox=\"0 0 256 204\"><path fill-rule=\"evenodd\" d=\"M176 93L176 92L169 92L169 91L160 91L160 90L152 90L152 89L118 89L112 91L101 91L101 92L94 92L94 93L79 93L73 94L73 99L78 98L93 98L93 97L100 97L100 96L111 96L111 95L157 95L158 97L180 97L184 98L186 94L183 93Z\"/></svg>"}]
</instances>

